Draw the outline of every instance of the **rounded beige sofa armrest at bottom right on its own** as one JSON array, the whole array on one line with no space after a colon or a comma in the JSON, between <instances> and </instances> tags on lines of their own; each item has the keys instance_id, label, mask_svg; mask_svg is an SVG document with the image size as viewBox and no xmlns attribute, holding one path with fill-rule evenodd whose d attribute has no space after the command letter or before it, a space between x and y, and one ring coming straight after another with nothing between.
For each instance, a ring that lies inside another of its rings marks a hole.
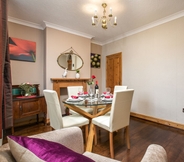
<instances>
[{"instance_id":1,"label":"rounded beige sofa armrest at bottom right on its own","mask_svg":"<svg viewBox=\"0 0 184 162\"><path fill-rule=\"evenodd\" d=\"M167 162L167 153L165 149L157 144L151 144L148 146L141 162Z\"/></svg>"}]
</instances>

